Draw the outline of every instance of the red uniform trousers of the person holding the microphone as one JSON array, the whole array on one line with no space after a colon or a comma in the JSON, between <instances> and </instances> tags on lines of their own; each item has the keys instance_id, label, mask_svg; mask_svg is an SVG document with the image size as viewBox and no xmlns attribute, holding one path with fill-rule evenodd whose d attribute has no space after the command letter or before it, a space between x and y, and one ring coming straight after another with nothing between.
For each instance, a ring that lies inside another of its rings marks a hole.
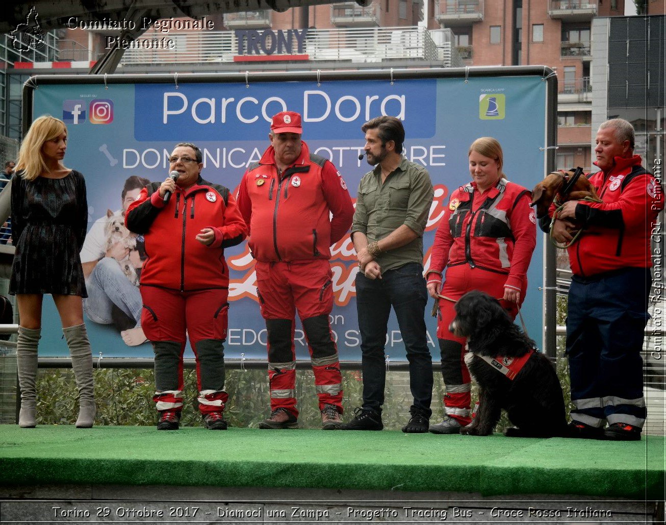
<instances>
[{"instance_id":1,"label":"red uniform trousers of the person holding the microphone","mask_svg":"<svg viewBox=\"0 0 666 525\"><path fill-rule=\"evenodd\" d=\"M180 292L141 286L141 326L155 350L157 410L182 410L185 338L196 357L196 386L202 415L223 412L224 346L229 303L226 288Z\"/></svg>"}]
</instances>

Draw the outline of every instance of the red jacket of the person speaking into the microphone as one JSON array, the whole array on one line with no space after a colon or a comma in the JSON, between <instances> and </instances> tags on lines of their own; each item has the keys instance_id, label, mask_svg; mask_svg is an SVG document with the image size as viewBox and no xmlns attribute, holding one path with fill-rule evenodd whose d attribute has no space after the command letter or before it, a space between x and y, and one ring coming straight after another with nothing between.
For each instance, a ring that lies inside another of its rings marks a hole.
<instances>
[{"instance_id":1,"label":"red jacket of the person speaking into the microphone","mask_svg":"<svg viewBox=\"0 0 666 525\"><path fill-rule=\"evenodd\" d=\"M176 186L165 205L160 185L151 183L141 190L125 213L127 228L145 238L148 259L141 270L141 284L182 292L228 288L224 248L237 245L247 235L233 195L224 186L199 177L184 191ZM215 233L209 246L195 239L202 228Z\"/></svg>"}]
</instances>

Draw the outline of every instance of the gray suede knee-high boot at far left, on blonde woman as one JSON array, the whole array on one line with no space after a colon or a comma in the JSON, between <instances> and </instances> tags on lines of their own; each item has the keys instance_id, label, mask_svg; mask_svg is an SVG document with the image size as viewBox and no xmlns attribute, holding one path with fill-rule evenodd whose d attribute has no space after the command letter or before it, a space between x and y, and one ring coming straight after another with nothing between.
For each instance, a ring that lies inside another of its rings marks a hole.
<instances>
[{"instance_id":1,"label":"gray suede knee-high boot at far left, on blonde woman","mask_svg":"<svg viewBox=\"0 0 666 525\"><path fill-rule=\"evenodd\" d=\"M31 330L19 326L19 338L16 342L16 364L21 388L21 411L19 426L35 428L35 408L37 407L37 345L41 338L41 328Z\"/></svg>"}]
</instances>

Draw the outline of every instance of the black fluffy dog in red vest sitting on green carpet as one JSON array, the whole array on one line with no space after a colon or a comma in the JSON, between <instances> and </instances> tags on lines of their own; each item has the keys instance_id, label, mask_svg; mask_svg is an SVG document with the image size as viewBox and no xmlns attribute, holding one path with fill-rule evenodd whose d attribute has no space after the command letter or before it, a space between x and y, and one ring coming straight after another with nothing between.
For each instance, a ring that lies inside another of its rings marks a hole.
<instances>
[{"instance_id":1,"label":"black fluffy dog in red vest sitting on green carpet","mask_svg":"<svg viewBox=\"0 0 666 525\"><path fill-rule=\"evenodd\" d=\"M565 434L564 399L555 368L513 324L498 300L484 292L468 292L456 303L456 318L449 329L468 338L470 353L465 362L481 388L476 417L460 429L461 434L488 436L500 420L501 408L515 425L504 432L506 436ZM527 360L515 374L511 364L520 358Z\"/></svg>"}]
</instances>

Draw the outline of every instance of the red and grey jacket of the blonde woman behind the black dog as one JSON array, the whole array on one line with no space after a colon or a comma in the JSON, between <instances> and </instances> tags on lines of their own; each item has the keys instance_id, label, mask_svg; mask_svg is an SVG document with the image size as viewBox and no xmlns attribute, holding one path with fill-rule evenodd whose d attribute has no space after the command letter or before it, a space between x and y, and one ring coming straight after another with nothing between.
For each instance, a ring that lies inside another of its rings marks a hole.
<instances>
[{"instance_id":1,"label":"red and grey jacket of the blonde woman behind the black dog","mask_svg":"<svg viewBox=\"0 0 666 525\"><path fill-rule=\"evenodd\" d=\"M458 188L435 233L428 272L470 264L507 274L505 284L520 290L537 239L529 203L529 191L505 179L484 193L476 183Z\"/></svg>"}]
</instances>

